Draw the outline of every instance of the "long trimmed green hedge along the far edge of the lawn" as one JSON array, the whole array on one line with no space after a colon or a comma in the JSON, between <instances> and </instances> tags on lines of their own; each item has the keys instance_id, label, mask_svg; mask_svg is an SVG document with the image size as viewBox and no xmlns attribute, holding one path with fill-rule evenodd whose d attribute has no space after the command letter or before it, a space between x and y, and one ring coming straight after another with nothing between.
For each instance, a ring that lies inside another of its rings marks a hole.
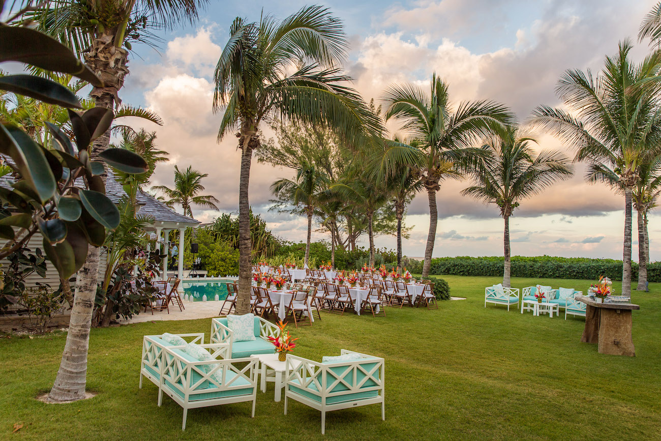
<instances>
[{"instance_id":1,"label":"long trimmed green hedge along the far edge of the lawn","mask_svg":"<svg viewBox=\"0 0 661 441\"><path fill-rule=\"evenodd\" d=\"M502 257L442 257L432 259L430 274L457 276L502 276ZM632 280L638 278L638 264L632 264ZM584 257L512 257L512 277L544 277L596 280L600 275L622 280L622 261ZM647 267L647 280L661 282L661 262Z\"/></svg>"}]
</instances>

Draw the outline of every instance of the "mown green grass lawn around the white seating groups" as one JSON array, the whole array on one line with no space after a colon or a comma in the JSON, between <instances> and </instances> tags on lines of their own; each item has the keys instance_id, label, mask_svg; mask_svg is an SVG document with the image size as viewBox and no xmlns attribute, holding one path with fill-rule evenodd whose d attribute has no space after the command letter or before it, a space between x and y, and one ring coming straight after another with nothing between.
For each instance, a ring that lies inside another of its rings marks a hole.
<instances>
[{"instance_id":1,"label":"mown green grass lawn around the white seating groups","mask_svg":"<svg viewBox=\"0 0 661 441\"><path fill-rule=\"evenodd\" d=\"M385 358L386 420L371 405L327 415L329 439L658 439L661 433L661 284L635 292L635 358L605 356L579 342L584 319L533 317L484 307L489 277L444 276L453 296L440 309L387 309L388 316L323 315L293 330L296 354L321 360L341 348ZM514 278L512 286L535 282ZM541 280L585 290L590 282ZM619 292L619 284L615 289ZM157 387L138 389L142 336L204 332L211 320L95 329L87 384L98 395L67 405L34 397L58 370L62 336L0 339L0 438L160 439L181 436L182 409ZM249 403L188 412L185 438L321 439L320 413L295 401L283 415L273 383ZM11 435L14 423L24 427Z\"/></svg>"}]
</instances>

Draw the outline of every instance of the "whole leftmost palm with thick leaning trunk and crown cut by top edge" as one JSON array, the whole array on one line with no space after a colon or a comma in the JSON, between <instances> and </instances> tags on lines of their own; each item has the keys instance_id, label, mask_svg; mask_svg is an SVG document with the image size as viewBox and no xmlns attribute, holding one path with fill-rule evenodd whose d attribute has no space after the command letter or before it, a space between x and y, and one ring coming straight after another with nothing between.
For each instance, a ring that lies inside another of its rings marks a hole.
<instances>
[{"instance_id":1,"label":"whole leftmost palm with thick leaning trunk and crown cut by top edge","mask_svg":"<svg viewBox=\"0 0 661 441\"><path fill-rule=\"evenodd\" d=\"M75 49L103 81L93 87L95 105L113 109L120 104L118 92L128 74L131 42L153 45L153 28L173 28L185 20L194 22L206 0L49 0L36 5L21 20L35 20L39 30L59 38ZM110 130L94 141L92 159L110 145ZM105 182L106 174L101 179ZM87 349L98 281L98 247L90 247L85 264L77 273L75 301L71 309L67 343L53 389L52 401L85 398Z\"/></svg>"}]
</instances>

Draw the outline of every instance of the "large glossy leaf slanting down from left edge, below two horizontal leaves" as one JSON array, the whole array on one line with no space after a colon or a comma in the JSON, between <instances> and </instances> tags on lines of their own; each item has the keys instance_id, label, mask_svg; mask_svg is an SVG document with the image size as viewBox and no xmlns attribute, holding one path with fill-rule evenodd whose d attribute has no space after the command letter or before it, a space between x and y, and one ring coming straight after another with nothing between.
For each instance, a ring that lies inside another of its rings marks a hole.
<instances>
[{"instance_id":1,"label":"large glossy leaf slanting down from left edge, below two horizontal leaves","mask_svg":"<svg viewBox=\"0 0 661 441\"><path fill-rule=\"evenodd\" d=\"M24 179L36 190L44 203L56 190L55 177L42 149L20 128L0 124L0 153L14 159Z\"/></svg>"}]
</instances>

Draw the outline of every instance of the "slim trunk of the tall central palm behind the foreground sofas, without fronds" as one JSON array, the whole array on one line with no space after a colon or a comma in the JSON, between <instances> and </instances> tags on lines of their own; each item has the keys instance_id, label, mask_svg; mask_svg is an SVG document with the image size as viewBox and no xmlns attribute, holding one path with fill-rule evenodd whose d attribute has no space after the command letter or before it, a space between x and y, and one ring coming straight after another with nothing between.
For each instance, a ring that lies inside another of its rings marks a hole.
<instances>
[{"instance_id":1,"label":"slim trunk of the tall central palm behind the foreground sofas, without fronds","mask_svg":"<svg viewBox=\"0 0 661 441\"><path fill-rule=\"evenodd\" d=\"M242 129L243 132L243 129ZM243 134L241 135L244 136ZM237 296L237 315L250 312L253 272L251 259L253 249L250 235L250 203L248 201L248 186L250 181L250 166L253 159L253 149L250 141L241 146L241 176L239 177L239 294Z\"/></svg>"}]
</instances>

